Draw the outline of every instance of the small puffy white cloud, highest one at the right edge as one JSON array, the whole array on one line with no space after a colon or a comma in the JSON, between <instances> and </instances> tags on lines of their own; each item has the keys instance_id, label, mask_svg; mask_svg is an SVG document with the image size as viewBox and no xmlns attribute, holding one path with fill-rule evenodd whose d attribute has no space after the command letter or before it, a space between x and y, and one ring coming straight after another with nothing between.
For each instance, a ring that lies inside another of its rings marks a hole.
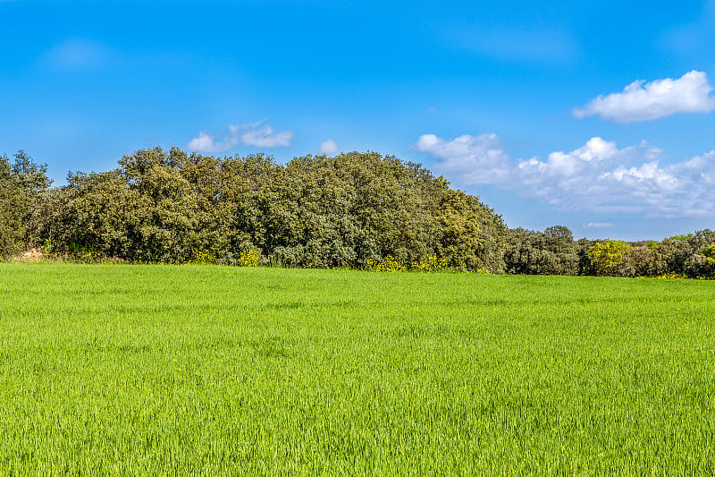
<instances>
[{"instance_id":1,"label":"small puffy white cloud, highest one at the right edge","mask_svg":"<svg viewBox=\"0 0 715 477\"><path fill-rule=\"evenodd\" d=\"M594 98L573 113L576 117L601 115L617 123L650 121L676 113L710 113L715 109L712 89L708 75L697 71L687 72L677 80L639 80L623 92Z\"/></svg>"}]
</instances>

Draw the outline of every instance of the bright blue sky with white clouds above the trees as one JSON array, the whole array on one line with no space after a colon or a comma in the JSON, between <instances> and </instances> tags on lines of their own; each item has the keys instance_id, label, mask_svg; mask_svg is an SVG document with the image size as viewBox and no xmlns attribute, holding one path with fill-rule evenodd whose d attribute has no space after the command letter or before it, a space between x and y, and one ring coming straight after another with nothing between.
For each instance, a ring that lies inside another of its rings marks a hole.
<instances>
[{"instance_id":1,"label":"bright blue sky with white clouds above the trees","mask_svg":"<svg viewBox=\"0 0 715 477\"><path fill-rule=\"evenodd\" d=\"M715 229L715 0L0 0L0 154L419 162L509 226Z\"/></svg>"}]
</instances>

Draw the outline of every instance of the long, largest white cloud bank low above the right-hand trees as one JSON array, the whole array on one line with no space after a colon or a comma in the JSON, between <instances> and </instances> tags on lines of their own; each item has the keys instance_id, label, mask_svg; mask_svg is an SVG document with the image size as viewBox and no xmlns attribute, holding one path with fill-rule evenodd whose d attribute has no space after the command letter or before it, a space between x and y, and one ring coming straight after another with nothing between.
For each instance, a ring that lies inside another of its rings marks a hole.
<instances>
[{"instance_id":1,"label":"long, largest white cloud bank low above the right-hand trees","mask_svg":"<svg viewBox=\"0 0 715 477\"><path fill-rule=\"evenodd\" d=\"M661 166L662 151L648 142L619 149L593 137L545 159L512 159L492 133L449 141L425 134L413 149L436 158L432 169L460 187L494 185L555 209L715 217L715 150Z\"/></svg>"}]
</instances>

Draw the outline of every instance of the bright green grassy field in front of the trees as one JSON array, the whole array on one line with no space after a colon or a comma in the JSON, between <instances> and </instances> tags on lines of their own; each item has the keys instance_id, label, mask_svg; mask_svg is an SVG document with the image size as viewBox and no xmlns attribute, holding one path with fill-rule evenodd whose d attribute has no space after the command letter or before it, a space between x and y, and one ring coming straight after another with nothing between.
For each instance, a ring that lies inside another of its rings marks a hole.
<instances>
[{"instance_id":1,"label":"bright green grassy field in front of the trees","mask_svg":"<svg viewBox=\"0 0 715 477\"><path fill-rule=\"evenodd\" d=\"M715 474L715 282L0 264L0 474Z\"/></svg>"}]
</instances>

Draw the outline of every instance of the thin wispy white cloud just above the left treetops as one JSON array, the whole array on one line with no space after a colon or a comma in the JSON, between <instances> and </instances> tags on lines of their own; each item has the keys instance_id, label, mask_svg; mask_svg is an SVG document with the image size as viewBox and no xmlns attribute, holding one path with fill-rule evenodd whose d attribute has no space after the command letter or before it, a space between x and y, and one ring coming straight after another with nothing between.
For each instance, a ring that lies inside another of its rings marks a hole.
<instances>
[{"instance_id":1,"label":"thin wispy white cloud just above the left treetops","mask_svg":"<svg viewBox=\"0 0 715 477\"><path fill-rule=\"evenodd\" d=\"M199 132L198 137L189 141L187 149L198 152L224 152L241 144L256 148L290 146L293 132L276 131L270 124L264 124L265 121L267 118L250 124L229 124L228 131L223 134Z\"/></svg>"}]
</instances>

